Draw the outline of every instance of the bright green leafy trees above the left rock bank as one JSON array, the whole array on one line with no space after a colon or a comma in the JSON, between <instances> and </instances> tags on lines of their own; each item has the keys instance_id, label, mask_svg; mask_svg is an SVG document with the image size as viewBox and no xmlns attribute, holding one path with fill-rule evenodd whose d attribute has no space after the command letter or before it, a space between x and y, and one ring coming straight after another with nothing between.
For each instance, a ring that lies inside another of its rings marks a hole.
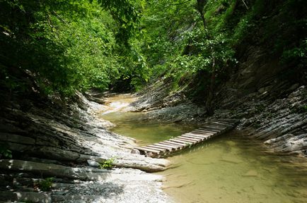
<instances>
[{"instance_id":1,"label":"bright green leafy trees above the left rock bank","mask_svg":"<svg viewBox=\"0 0 307 203\"><path fill-rule=\"evenodd\" d=\"M142 4L0 1L1 87L31 89L13 69L30 71L40 90L64 97L92 87L108 90L120 78L133 78L132 87L139 86L147 77L146 63L136 38L130 38L138 33Z\"/></svg>"}]
</instances>

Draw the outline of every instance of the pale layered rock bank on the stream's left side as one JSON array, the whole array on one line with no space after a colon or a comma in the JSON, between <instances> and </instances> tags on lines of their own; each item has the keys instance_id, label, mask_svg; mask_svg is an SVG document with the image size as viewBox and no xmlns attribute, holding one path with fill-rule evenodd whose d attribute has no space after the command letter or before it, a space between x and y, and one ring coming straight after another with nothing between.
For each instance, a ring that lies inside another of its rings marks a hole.
<instances>
[{"instance_id":1,"label":"pale layered rock bank on the stream's left side","mask_svg":"<svg viewBox=\"0 0 307 203\"><path fill-rule=\"evenodd\" d=\"M66 109L31 100L2 108L1 150L12 157L0 160L0 202L170 202L163 177L145 172L168 161L131 154L134 140L95 116L102 105L76 100ZM115 168L100 168L110 160Z\"/></svg>"}]
</instances>

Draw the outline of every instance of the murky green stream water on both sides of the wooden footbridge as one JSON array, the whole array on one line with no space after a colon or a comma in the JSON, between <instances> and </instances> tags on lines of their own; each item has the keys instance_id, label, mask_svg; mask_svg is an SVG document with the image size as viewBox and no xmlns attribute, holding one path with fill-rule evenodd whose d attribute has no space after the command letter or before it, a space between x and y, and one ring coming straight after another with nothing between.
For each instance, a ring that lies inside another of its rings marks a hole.
<instances>
[{"instance_id":1,"label":"murky green stream water on both sides of the wooden footbridge","mask_svg":"<svg viewBox=\"0 0 307 203\"><path fill-rule=\"evenodd\" d=\"M141 113L116 111L103 118L117 124L112 129L115 133L134 137L139 144L159 142L195 128L140 121ZM175 167L161 174L166 176L164 190L175 202L307 202L306 161L267 154L260 142L238 132L168 159Z\"/></svg>"}]
</instances>

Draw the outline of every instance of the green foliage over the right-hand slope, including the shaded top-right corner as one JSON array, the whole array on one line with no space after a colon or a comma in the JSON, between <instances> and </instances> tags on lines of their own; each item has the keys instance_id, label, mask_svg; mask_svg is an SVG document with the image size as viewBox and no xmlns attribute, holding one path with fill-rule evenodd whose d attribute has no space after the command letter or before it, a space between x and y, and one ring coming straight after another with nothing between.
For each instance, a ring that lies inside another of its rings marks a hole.
<instances>
[{"instance_id":1,"label":"green foliage over the right-hand slope, including the shaded top-right corner","mask_svg":"<svg viewBox=\"0 0 307 203\"><path fill-rule=\"evenodd\" d=\"M141 48L151 77L163 75L178 83L184 73L201 75L192 92L208 92L210 75L215 85L225 80L238 63L236 51L245 44L270 47L268 54L281 56L294 73L306 66L306 36L300 34L306 32L304 1L202 1L205 27L197 2L146 1Z\"/></svg>"}]
</instances>

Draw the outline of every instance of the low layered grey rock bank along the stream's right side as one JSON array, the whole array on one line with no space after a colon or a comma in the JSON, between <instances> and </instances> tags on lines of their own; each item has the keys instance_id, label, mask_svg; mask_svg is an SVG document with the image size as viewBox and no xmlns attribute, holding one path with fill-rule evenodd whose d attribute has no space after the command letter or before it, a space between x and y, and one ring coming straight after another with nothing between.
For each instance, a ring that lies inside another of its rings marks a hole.
<instances>
[{"instance_id":1,"label":"low layered grey rock bank along the stream's right side","mask_svg":"<svg viewBox=\"0 0 307 203\"><path fill-rule=\"evenodd\" d=\"M132 103L134 111L146 112L146 119L161 122L198 123L214 118L236 118L238 130L262 140L274 153L307 156L307 88L289 82L273 82L256 92L226 85L216 92L213 116L203 105L185 97L185 90L170 92L168 83L158 80ZM158 97L156 97L158 95Z\"/></svg>"}]
</instances>

